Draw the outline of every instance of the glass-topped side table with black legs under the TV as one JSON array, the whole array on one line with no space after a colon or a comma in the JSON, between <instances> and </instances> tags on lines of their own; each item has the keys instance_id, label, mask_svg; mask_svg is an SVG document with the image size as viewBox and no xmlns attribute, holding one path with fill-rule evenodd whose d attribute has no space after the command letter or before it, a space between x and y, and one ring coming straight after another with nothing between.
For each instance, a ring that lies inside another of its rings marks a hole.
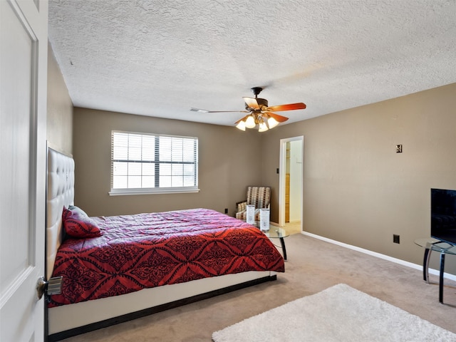
<instances>
[{"instance_id":1,"label":"glass-topped side table with black legs under the TV","mask_svg":"<svg viewBox=\"0 0 456 342\"><path fill-rule=\"evenodd\" d=\"M432 251L440 253L439 301L443 304L443 274L445 273L445 254L456 255L456 246L437 239L416 239L415 244L425 248L423 258L423 280L429 283L429 259Z\"/></svg>"}]
</instances>

